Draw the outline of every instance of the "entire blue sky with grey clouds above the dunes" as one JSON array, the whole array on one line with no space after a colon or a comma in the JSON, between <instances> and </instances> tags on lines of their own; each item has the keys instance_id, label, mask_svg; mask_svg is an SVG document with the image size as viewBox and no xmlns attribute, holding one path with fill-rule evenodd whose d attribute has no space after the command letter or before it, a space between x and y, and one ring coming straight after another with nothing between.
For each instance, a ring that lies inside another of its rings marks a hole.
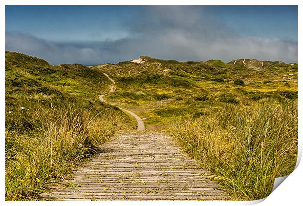
<instances>
[{"instance_id":1,"label":"entire blue sky with grey clouds above the dunes","mask_svg":"<svg viewBox=\"0 0 303 206\"><path fill-rule=\"evenodd\" d=\"M297 6L5 6L5 49L52 64L298 62Z\"/></svg>"}]
</instances>

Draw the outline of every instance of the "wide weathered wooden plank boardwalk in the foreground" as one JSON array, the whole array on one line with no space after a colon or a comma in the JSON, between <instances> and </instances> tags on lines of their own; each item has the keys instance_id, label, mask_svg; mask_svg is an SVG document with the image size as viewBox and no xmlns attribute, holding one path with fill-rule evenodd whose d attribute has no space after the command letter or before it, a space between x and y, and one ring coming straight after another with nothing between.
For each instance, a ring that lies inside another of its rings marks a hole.
<instances>
[{"instance_id":1,"label":"wide weathered wooden plank boardwalk in the foreground","mask_svg":"<svg viewBox=\"0 0 303 206\"><path fill-rule=\"evenodd\" d=\"M69 187L52 188L44 200L224 200L197 163L163 133L120 133L73 171ZM78 185L78 186L77 186Z\"/></svg>"}]
</instances>

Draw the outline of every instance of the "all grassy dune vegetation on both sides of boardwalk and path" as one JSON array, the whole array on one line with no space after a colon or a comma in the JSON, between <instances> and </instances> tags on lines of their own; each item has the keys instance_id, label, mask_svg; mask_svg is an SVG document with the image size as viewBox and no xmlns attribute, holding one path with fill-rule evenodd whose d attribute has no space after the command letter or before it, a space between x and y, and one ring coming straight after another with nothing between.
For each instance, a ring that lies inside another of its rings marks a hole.
<instances>
[{"instance_id":1,"label":"all grassy dune vegetation on both sides of boardwalk and path","mask_svg":"<svg viewBox=\"0 0 303 206\"><path fill-rule=\"evenodd\" d=\"M298 144L298 64L257 60L49 65L5 53L5 194L36 198L129 117L170 133L234 200L268 196L292 172ZM24 107L24 109L22 109ZM69 141L70 139L70 141ZM29 166L30 165L30 166Z\"/></svg>"}]
</instances>

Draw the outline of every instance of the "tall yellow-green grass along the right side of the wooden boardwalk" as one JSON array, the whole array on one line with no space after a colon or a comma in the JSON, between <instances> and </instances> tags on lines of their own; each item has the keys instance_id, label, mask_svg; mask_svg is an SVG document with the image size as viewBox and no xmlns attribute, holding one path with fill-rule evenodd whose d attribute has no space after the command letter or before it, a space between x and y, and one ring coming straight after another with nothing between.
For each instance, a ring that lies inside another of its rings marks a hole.
<instances>
[{"instance_id":1,"label":"tall yellow-green grass along the right side of the wooden boardwalk","mask_svg":"<svg viewBox=\"0 0 303 206\"><path fill-rule=\"evenodd\" d=\"M296 165L298 102L226 104L168 130L234 200L261 199Z\"/></svg>"}]
</instances>

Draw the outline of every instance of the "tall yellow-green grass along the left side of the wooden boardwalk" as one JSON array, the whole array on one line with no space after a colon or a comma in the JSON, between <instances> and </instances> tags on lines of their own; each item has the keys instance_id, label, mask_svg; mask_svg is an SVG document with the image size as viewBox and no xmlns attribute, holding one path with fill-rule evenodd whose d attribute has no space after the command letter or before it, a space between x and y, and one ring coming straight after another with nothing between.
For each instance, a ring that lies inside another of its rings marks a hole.
<instances>
[{"instance_id":1,"label":"tall yellow-green grass along the left side of the wooden boardwalk","mask_svg":"<svg viewBox=\"0 0 303 206\"><path fill-rule=\"evenodd\" d=\"M28 102L5 111L5 199L33 200L47 186L93 154L123 124L113 108L84 108L79 103ZM23 108L24 107L24 108Z\"/></svg>"}]
</instances>

